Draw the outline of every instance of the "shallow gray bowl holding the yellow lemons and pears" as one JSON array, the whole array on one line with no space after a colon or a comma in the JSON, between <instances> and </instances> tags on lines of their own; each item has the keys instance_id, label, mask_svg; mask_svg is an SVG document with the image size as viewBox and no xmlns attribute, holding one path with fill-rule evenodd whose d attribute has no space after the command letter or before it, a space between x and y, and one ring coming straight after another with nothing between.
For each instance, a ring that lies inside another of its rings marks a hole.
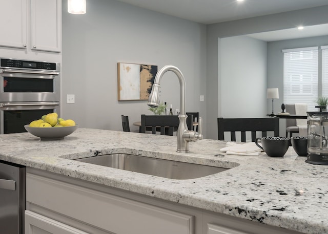
<instances>
[{"instance_id":1,"label":"shallow gray bowl holding the yellow lemons and pears","mask_svg":"<svg viewBox=\"0 0 328 234\"><path fill-rule=\"evenodd\" d=\"M24 125L26 131L30 134L40 137L41 140L60 140L77 130L78 125L67 127L30 127Z\"/></svg>"}]
</instances>

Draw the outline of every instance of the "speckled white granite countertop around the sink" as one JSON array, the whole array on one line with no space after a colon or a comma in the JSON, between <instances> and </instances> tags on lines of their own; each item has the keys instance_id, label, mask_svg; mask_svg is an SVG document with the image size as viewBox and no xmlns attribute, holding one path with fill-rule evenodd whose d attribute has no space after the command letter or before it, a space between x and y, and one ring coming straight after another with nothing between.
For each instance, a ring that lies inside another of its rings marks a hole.
<instances>
[{"instance_id":1,"label":"speckled white granite countertop around the sink","mask_svg":"<svg viewBox=\"0 0 328 234\"><path fill-rule=\"evenodd\" d=\"M281 158L226 155L226 142L203 139L176 153L176 137L78 129L63 140L0 135L0 160L304 233L328 233L328 167L305 163L292 147ZM230 168L174 180L70 159L130 153Z\"/></svg>"}]
</instances>

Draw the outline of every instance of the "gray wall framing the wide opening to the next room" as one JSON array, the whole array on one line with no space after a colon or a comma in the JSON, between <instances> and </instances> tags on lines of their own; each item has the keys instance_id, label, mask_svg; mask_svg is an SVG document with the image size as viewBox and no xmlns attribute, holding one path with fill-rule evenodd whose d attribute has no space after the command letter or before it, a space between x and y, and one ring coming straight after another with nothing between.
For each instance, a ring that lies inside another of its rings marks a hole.
<instances>
[{"instance_id":1,"label":"gray wall framing the wide opening to the next room","mask_svg":"<svg viewBox=\"0 0 328 234\"><path fill-rule=\"evenodd\" d=\"M221 38L328 23L328 5L298 11L234 20L207 26L207 137L217 139L216 118L222 116ZM271 83L268 83L269 88ZM251 103L250 103L251 105ZM268 110L270 105L268 105ZM259 116L260 117L260 116Z\"/></svg>"}]
</instances>

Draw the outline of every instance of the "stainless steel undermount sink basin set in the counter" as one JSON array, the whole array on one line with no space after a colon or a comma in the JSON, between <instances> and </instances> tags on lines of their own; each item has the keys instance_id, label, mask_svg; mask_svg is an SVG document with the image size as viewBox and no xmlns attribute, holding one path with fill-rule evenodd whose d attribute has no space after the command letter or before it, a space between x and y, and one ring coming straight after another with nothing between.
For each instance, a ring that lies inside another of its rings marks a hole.
<instances>
[{"instance_id":1,"label":"stainless steel undermount sink basin set in the counter","mask_svg":"<svg viewBox=\"0 0 328 234\"><path fill-rule=\"evenodd\" d=\"M108 154L74 160L177 180L199 178L228 169L130 154Z\"/></svg>"}]
</instances>

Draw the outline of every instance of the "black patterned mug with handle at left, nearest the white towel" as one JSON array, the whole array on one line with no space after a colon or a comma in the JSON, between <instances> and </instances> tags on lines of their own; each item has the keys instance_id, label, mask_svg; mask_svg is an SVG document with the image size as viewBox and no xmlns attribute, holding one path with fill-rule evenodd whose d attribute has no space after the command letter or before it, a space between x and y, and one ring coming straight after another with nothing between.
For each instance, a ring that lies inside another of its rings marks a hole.
<instances>
[{"instance_id":1,"label":"black patterned mug with handle at left, nearest the white towel","mask_svg":"<svg viewBox=\"0 0 328 234\"><path fill-rule=\"evenodd\" d=\"M259 145L261 143L261 145ZM288 150L290 138L261 137L256 138L255 144L270 157L282 157Z\"/></svg>"}]
</instances>

